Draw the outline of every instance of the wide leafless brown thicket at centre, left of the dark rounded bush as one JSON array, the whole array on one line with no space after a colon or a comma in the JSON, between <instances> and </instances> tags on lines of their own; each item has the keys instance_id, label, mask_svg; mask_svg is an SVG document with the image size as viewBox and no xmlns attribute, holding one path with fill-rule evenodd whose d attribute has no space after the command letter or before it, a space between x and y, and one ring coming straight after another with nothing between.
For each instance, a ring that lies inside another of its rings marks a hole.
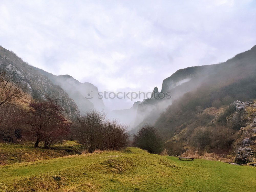
<instances>
[{"instance_id":1,"label":"wide leafless brown thicket at centre, left of the dark rounded bush","mask_svg":"<svg viewBox=\"0 0 256 192\"><path fill-rule=\"evenodd\" d=\"M116 121L106 121L106 114L90 111L77 118L73 125L75 137L89 152L120 150L129 144L127 127Z\"/></svg>"}]
</instances>

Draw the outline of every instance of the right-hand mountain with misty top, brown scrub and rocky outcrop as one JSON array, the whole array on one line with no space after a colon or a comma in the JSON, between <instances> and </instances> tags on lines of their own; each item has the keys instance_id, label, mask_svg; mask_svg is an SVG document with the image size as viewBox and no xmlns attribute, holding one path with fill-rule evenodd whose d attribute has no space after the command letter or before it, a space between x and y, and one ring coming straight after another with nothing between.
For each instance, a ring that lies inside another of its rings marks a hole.
<instances>
[{"instance_id":1,"label":"right-hand mountain with misty top, brown scrub and rocky outcrop","mask_svg":"<svg viewBox=\"0 0 256 192\"><path fill-rule=\"evenodd\" d=\"M256 46L223 63L180 69L161 92L172 98L139 104L131 133L150 123L170 151L195 147L234 155L237 163L255 161Z\"/></svg>"}]
</instances>

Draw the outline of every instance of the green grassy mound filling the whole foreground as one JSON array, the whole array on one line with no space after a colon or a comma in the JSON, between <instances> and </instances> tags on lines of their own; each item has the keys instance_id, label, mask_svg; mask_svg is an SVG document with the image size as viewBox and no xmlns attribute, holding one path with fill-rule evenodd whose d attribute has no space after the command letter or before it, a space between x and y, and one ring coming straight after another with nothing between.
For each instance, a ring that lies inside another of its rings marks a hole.
<instances>
[{"instance_id":1,"label":"green grassy mound filling the whole foreground","mask_svg":"<svg viewBox=\"0 0 256 192\"><path fill-rule=\"evenodd\" d=\"M0 191L253 191L256 187L254 167L131 151L0 166Z\"/></svg>"}]
</instances>

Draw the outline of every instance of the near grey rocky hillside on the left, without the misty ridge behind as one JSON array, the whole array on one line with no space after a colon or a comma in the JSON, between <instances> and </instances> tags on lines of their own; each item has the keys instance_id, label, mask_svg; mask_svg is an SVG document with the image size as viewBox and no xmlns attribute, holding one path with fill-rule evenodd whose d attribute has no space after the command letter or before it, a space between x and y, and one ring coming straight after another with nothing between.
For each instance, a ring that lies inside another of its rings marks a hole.
<instances>
[{"instance_id":1,"label":"near grey rocky hillside on the left, without the misty ridge behind","mask_svg":"<svg viewBox=\"0 0 256 192\"><path fill-rule=\"evenodd\" d=\"M74 118L78 113L77 105L58 85L45 77L33 66L28 65L13 52L0 47L0 67L16 76L27 86L27 92L33 97L51 98L59 100L59 104L65 109L68 118Z\"/></svg>"}]
</instances>

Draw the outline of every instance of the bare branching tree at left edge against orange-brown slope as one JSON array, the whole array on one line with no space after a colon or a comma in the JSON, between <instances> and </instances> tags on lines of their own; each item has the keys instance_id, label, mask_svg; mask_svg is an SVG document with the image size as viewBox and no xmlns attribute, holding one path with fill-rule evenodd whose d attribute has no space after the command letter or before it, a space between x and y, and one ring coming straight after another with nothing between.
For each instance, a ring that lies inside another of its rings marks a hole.
<instances>
[{"instance_id":1,"label":"bare branching tree at left edge against orange-brown slope","mask_svg":"<svg viewBox=\"0 0 256 192\"><path fill-rule=\"evenodd\" d=\"M0 106L25 96L25 86L13 75L0 70Z\"/></svg>"}]
</instances>

